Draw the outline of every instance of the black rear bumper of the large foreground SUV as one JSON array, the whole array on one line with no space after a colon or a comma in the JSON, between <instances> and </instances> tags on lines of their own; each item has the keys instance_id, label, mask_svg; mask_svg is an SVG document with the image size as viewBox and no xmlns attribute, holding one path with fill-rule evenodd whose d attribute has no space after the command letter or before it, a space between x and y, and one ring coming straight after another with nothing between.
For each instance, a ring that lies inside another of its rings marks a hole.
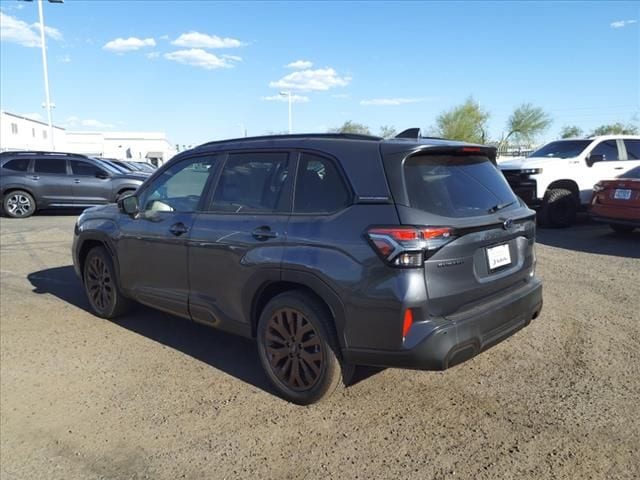
<instances>
[{"instance_id":1,"label":"black rear bumper of the large foreground SUV","mask_svg":"<svg viewBox=\"0 0 640 480\"><path fill-rule=\"evenodd\" d=\"M415 323L402 350L347 349L356 365L444 370L468 360L527 326L542 310L542 283L532 279L499 302L455 319Z\"/></svg>"}]
</instances>

